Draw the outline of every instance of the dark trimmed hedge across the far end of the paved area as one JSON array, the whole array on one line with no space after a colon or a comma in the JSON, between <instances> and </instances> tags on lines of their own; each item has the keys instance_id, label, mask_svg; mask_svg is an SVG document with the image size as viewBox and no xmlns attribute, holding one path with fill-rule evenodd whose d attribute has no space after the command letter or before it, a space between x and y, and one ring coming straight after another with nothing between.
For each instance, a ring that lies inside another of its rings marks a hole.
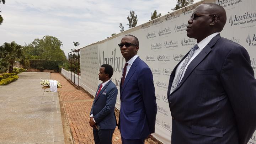
<instances>
[{"instance_id":1,"label":"dark trimmed hedge across the far end of the paved area","mask_svg":"<svg viewBox=\"0 0 256 144\"><path fill-rule=\"evenodd\" d=\"M61 60L30 59L30 67L34 69L44 68L58 71L58 65L63 65L63 62Z\"/></svg>"}]
</instances>

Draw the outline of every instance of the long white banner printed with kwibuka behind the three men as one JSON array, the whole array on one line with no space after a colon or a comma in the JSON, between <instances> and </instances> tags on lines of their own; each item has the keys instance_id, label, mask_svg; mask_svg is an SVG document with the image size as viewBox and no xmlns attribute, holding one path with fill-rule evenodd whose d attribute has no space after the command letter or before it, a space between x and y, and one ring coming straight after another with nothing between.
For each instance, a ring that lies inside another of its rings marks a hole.
<instances>
[{"instance_id":1,"label":"long white banner printed with kwibuka behind the three men","mask_svg":"<svg viewBox=\"0 0 256 144\"><path fill-rule=\"evenodd\" d=\"M95 95L98 72L102 64L114 69L111 80L118 87L116 108L120 108L119 84L125 63L118 43L126 34L139 39L139 57L146 62L154 76L158 113L154 137L165 144L171 143L172 117L167 100L169 77L176 64L196 42L186 36L187 21L201 3L215 2L224 7L227 22L222 37L244 46L250 54L251 66L256 73L256 11L255 0L202 0L178 11L156 18L140 26L116 34L101 42L81 48L81 86ZM248 144L256 143L256 133Z\"/></svg>"}]
</instances>

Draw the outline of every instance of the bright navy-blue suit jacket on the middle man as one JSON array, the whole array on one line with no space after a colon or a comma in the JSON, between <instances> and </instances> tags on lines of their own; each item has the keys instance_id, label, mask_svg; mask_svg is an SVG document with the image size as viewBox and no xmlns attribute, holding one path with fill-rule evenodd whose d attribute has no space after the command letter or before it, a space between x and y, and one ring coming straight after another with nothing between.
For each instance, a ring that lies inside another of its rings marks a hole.
<instances>
[{"instance_id":1,"label":"bright navy-blue suit jacket on the middle man","mask_svg":"<svg viewBox=\"0 0 256 144\"><path fill-rule=\"evenodd\" d=\"M122 80L121 80L122 81ZM142 139L155 132L156 97L153 74L139 57L120 85L119 127L123 138Z\"/></svg>"}]
</instances>

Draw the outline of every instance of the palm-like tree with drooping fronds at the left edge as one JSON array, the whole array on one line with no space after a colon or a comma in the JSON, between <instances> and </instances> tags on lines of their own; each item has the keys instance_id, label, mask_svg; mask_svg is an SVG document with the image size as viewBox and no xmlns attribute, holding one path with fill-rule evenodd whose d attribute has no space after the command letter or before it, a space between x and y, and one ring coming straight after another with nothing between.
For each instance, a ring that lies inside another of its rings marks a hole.
<instances>
[{"instance_id":1,"label":"palm-like tree with drooping fronds at the left edge","mask_svg":"<svg viewBox=\"0 0 256 144\"><path fill-rule=\"evenodd\" d=\"M23 57L23 48L15 42L4 43L4 45L0 47L0 53L2 54L1 56L4 62L9 64L9 73L11 73L15 61L19 61Z\"/></svg>"}]
</instances>

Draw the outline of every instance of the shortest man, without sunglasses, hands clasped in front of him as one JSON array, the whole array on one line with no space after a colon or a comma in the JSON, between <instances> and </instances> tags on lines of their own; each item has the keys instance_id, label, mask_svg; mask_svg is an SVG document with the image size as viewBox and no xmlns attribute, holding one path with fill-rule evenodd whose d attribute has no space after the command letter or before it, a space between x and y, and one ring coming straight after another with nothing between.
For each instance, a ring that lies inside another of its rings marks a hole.
<instances>
[{"instance_id":1,"label":"shortest man, without sunglasses, hands clasped in front of him","mask_svg":"<svg viewBox=\"0 0 256 144\"><path fill-rule=\"evenodd\" d=\"M112 75L113 68L111 65L101 65L98 77L102 84L98 85L89 122L90 126L93 127L95 144L112 144L112 136L117 126L114 107L118 90L110 80Z\"/></svg>"}]
</instances>

